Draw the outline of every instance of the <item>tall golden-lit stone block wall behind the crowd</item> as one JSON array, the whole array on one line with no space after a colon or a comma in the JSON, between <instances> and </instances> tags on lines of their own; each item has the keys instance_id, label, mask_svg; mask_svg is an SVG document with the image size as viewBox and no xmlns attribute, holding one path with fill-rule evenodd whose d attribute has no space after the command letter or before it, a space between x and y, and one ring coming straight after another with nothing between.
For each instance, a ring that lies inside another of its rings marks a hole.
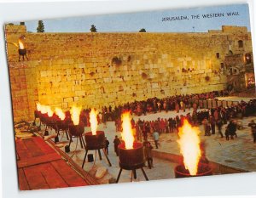
<instances>
[{"instance_id":1,"label":"tall golden-lit stone block wall behind the crowd","mask_svg":"<svg viewBox=\"0 0 256 198\"><path fill-rule=\"evenodd\" d=\"M28 33L24 25L5 31L16 121L32 119L36 101L68 110L222 90L226 54L252 51L250 33L236 26L206 33ZM10 42L21 35L29 60L19 62Z\"/></svg>"}]
</instances>

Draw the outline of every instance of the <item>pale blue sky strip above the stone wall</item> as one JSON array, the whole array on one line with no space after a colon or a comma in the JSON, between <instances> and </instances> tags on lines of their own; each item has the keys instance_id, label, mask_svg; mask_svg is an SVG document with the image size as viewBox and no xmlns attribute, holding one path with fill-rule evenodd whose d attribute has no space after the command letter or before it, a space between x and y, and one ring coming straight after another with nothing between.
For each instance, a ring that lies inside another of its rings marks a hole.
<instances>
[{"instance_id":1,"label":"pale blue sky strip above the stone wall","mask_svg":"<svg viewBox=\"0 0 256 198\"><path fill-rule=\"evenodd\" d=\"M230 12L238 12L239 15L227 16ZM199 14L200 19L193 20L191 15L195 14ZM202 14L224 14L224 16L203 18ZM187 16L188 19L162 21L165 17L178 16ZM221 29L222 25L247 26L250 31L247 4L42 20L46 32L90 32L90 25L96 25L98 32L137 32L141 28L145 28L148 32L205 32ZM27 31L36 32L37 26L38 20L26 21Z\"/></svg>"}]
</instances>

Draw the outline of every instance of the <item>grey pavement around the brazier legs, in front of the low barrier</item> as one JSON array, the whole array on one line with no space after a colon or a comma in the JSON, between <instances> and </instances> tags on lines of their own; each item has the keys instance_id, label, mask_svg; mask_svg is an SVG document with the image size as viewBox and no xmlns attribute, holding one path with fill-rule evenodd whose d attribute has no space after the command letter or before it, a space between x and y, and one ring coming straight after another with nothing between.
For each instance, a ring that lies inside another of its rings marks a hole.
<instances>
[{"instance_id":1,"label":"grey pavement around the brazier legs, in front of the low barrier","mask_svg":"<svg viewBox=\"0 0 256 198\"><path fill-rule=\"evenodd\" d=\"M102 161L99 160L98 153L96 154L95 151L90 150L88 154L93 154L95 162L86 162L84 164L84 170L89 172L92 176L95 176L96 169L98 167L106 167L108 169L108 173L101 179L98 179L100 184L108 184L108 180L110 178L117 178L119 173L119 158L116 156L113 150L113 139L115 135L119 137L121 134L115 132L115 125L114 122L107 122L107 125L104 126L103 124L98 126L98 130L102 130L105 132L106 137L109 140L109 149L108 149L108 158L112 163L112 167L108 166L108 161L106 160L105 156L102 153ZM85 133L90 131L90 127L85 127ZM51 133L55 133L54 131ZM60 137L60 143L68 144L66 135L63 135L62 139ZM85 150L81 148L80 143L78 142L77 152L73 152L75 150L77 143L77 139L73 139L73 143L71 144L71 152L67 153L68 156L72 156L73 161L75 161L80 167L82 166L84 160L84 153ZM64 147L61 150L65 150ZM102 152L102 151L101 151ZM161 160L154 158L154 167L149 169L148 167L144 167L144 170L148 176L149 180L157 180L157 179L166 179L166 178L174 178L173 169L177 166L176 163L171 161ZM143 173L140 169L137 170L137 179L133 178L134 182L138 181L145 181L143 177ZM119 178L119 183L131 182L131 171L123 170L121 177Z\"/></svg>"}]
</instances>

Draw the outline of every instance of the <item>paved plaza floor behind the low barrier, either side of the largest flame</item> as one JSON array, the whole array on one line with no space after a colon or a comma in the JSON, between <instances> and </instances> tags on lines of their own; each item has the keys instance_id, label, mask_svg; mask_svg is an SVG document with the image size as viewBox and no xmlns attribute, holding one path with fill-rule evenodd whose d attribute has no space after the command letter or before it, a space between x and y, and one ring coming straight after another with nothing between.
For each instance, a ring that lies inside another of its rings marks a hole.
<instances>
[{"instance_id":1,"label":"paved plaza floor behind the low barrier, either side of the largest flame","mask_svg":"<svg viewBox=\"0 0 256 198\"><path fill-rule=\"evenodd\" d=\"M211 136L204 136L203 127L201 129L200 139L206 143L207 159L228 167L234 167L246 172L256 171L256 144L253 144L251 128L247 127L248 123L256 117L247 117L242 122L243 129L237 130L237 138L221 139L216 128L216 133ZM222 128L224 133L225 127ZM177 145L177 133L162 133L160 135L160 148L158 151L180 155Z\"/></svg>"}]
</instances>

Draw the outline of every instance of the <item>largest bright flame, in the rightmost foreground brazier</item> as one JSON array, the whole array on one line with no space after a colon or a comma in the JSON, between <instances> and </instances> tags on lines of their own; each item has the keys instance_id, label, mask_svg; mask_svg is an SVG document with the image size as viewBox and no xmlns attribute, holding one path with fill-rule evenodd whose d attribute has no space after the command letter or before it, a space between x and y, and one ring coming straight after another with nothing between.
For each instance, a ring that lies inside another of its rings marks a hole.
<instances>
[{"instance_id":1,"label":"largest bright flame, in the rightmost foreground brazier","mask_svg":"<svg viewBox=\"0 0 256 198\"><path fill-rule=\"evenodd\" d=\"M201 157L199 133L199 128L192 127L187 120L184 120L183 127L178 128L177 143L183 155L185 168L189 170L190 175L196 175Z\"/></svg>"}]
</instances>

